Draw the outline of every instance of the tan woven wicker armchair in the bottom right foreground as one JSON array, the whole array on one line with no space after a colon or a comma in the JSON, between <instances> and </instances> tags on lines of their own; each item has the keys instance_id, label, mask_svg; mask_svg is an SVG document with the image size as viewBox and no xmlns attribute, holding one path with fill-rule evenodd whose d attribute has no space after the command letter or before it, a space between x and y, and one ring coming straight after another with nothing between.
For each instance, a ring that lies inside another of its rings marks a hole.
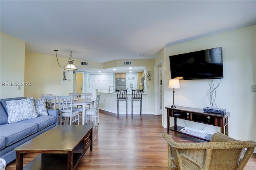
<instances>
[{"instance_id":1,"label":"tan woven wicker armchair in the bottom right foreground","mask_svg":"<svg viewBox=\"0 0 256 170\"><path fill-rule=\"evenodd\" d=\"M166 133L162 136L168 142L168 170L243 170L256 147L253 140L236 140L220 132L210 142L188 144L174 142Z\"/></svg>"}]
</instances>

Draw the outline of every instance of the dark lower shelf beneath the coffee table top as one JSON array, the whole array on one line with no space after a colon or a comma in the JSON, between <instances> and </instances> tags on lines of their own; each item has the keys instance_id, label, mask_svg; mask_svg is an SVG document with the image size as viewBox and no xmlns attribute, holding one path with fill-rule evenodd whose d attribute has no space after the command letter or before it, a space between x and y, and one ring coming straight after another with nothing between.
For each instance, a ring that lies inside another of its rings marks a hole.
<instances>
[{"instance_id":1,"label":"dark lower shelf beneath the coffee table top","mask_svg":"<svg viewBox=\"0 0 256 170\"><path fill-rule=\"evenodd\" d=\"M84 154L74 153L74 165L79 162ZM34 160L23 167L23 170L64 170L67 168L67 154L40 154Z\"/></svg>"}]
</instances>

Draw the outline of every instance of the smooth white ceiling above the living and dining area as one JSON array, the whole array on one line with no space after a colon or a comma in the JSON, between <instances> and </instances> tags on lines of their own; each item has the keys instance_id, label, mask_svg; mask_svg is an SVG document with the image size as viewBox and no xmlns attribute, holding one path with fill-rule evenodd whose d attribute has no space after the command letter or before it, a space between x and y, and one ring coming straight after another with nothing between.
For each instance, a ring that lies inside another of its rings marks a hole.
<instances>
[{"instance_id":1,"label":"smooth white ceiling above the living and dining area","mask_svg":"<svg viewBox=\"0 0 256 170\"><path fill-rule=\"evenodd\" d=\"M100 63L152 59L165 46L256 24L255 0L1 0L0 8L1 32L26 51Z\"/></svg>"}]
</instances>

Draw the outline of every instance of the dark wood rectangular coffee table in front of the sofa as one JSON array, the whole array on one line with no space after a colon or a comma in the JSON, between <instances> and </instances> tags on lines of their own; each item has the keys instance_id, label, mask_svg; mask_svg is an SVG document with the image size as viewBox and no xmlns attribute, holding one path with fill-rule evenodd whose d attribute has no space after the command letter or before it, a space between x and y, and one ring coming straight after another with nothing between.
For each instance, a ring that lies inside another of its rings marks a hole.
<instances>
[{"instance_id":1,"label":"dark wood rectangular coffee table in front of the sofa","mask_svg":"<svg viewBox=\"0 0 256 170\"><path fill-rule=\"evenodd\" d=\"M18 146L16 170L23 168L23 154L41 153L26 170L73 170L90 147L93 125L57 125Z\"/></svg>"}]
</instances>

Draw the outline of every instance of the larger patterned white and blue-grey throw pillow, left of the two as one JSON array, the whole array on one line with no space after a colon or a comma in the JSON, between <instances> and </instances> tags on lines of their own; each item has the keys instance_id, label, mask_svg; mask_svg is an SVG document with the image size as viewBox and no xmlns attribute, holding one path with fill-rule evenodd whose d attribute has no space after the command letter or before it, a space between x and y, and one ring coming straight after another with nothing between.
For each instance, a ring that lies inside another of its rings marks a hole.
<instances>
[{"instance_id":1,"label":"larger patterned white and blue-grey throw pillow, left of the two","mask_svg":"<svg viewBox=\"0 0 256 170\"><path fill-rule=\"evenodd\" d=\"M6 101L8 123L37 117L34 102L31 99Z\"/></svg>"}]
</instances>

